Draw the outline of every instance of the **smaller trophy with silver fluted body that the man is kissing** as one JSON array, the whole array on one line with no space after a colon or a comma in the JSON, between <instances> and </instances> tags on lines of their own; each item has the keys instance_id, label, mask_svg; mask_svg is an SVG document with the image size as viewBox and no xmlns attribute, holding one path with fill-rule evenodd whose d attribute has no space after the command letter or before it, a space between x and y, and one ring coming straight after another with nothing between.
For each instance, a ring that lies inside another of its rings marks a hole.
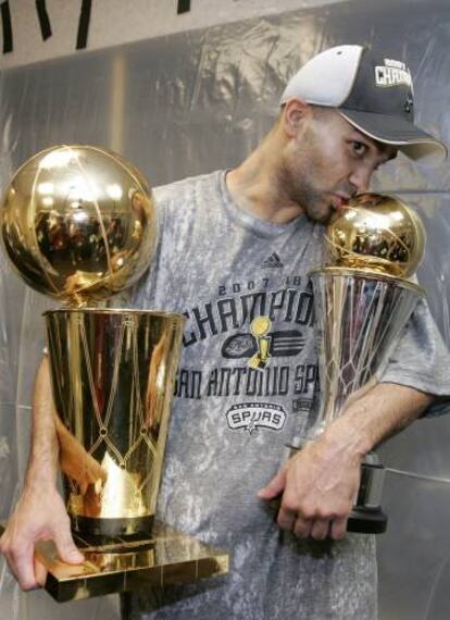
<instances>
[{"instance_id":1,"label":"smaller trophy with silver fluted body that the man is kissing","mask_svg":"<svg viewBox=\"0 0 450 620\"><path fill-rule=\"evenodd\" d=\"M380 377L424 290L408 278L425 246L417 215L399 199L365 194L336 215L326 234L329 265L310 276L316 305L321 402L307 441L317 437ZM362 466L348 530L382 533L385 469L374 452Z\"/></svg>"}]
</instances>

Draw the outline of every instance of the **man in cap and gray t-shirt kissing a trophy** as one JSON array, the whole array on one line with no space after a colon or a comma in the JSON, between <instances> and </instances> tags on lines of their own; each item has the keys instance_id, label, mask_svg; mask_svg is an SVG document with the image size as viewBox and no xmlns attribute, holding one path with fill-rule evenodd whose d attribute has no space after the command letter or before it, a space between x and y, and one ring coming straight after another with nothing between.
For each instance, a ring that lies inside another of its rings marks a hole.
<instances>
[{"instance_id":1,"label":"man in cap and gray t-shirt kissing a trophy","mask_svg":"<svg viewBox=\"0 0 450 620\"><path fill-rule=\"evenodd\" d=\"M375 618L373 537L346 535L361 461L450 392L446 347L421 305L383 383L280 468L285 444L311 424L317 361L307 274L323 260L323 224L398 149L414 159L445 153L412 124L404 64L360 46L312 59L280 103L240 166L157 193L160 247L135 303L188 319L160 514L230 549L232 567L124 597L126 618ZM54 486L46 365L26 486L1 541L25 588L41 579L37 538L54 537L63 559L80 560ZM275 523L266 500L279 494Z\"/></svg>"}]
</instances>

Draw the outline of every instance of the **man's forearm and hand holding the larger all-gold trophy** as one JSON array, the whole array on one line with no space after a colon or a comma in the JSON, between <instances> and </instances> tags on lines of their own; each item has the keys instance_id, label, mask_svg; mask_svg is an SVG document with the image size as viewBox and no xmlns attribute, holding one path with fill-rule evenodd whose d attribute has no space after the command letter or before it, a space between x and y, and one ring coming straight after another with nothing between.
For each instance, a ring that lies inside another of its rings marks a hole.
<instances>
[{"instance_id":1,"label":"man's forearm and hand holding the larger all-gold trophy","mask_svg":"<svg viewBox=\"0 0 450 620\"><path fill-rule=\"evenodd\" d=\"M46 578L43 567L34 561L35 543L39 540L52 538L64 561L83 561L57 488L59 446L47 356L35 381L32 437L24 491L0 538L0 551L23 590L42 585Z\"/></svg>"}]
</instances>

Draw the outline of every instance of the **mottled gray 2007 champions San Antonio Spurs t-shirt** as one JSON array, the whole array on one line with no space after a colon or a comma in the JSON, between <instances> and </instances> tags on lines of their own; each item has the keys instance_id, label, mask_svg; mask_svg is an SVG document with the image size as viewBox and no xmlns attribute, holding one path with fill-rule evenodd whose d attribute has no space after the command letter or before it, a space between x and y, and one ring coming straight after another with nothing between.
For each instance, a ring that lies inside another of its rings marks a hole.
<instances>
[{"instance_id":1,"label":"mottled gray 2007 champions San Antonio Spurs t-shirt","mask_svg":"<svg viewBox=\"0 0 450 620\"><path fill-rule=\"evenodd\" d=\"M157 201L159 252L135 305L188 319L159 516L229 549L232 561L226 576L125 597L124 617L376 618L373 536L298 541L257 497L285 445L312 422L317 359L307 274L321 264L323 226L305 216L271 224L238 209L224 172L159 188ZM425 307L414 321L387 380L448 393L437 363L445 348Z\"/></svg>"}]
</instances>

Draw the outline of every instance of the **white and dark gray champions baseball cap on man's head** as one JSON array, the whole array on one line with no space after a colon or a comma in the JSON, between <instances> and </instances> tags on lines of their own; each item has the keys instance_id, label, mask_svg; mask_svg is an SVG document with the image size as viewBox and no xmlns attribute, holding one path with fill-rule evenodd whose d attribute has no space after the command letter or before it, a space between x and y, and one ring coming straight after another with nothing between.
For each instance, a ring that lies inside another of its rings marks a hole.
<instances>
[{"instance_id":1,"label":"white and dark gray champions baseball cap on man's head","mask_svg":"<svg viewBox=\"0 0 450 620\"><path fill-rule=\"evenodd\" d=\"M379 51L348 45L318 53L290 79L280 104L289 99L336 108L360 132L413 160L447 157L443 142L414 125L410 70Z\"/></svg>"}]
</instances>

